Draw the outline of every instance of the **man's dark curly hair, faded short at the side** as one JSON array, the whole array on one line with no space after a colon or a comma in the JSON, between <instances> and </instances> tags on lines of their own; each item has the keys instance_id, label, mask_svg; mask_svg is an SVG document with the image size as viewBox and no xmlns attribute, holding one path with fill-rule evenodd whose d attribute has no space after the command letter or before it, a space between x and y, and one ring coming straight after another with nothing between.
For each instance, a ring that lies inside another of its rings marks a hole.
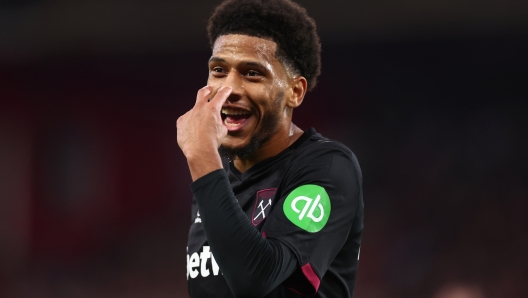
<instances>
[{"instance_id":1,"label":"man's dark curly hair, faded short at the side","mask_svg":"<svg viewBox=\"0 0 528 298\"><path fill-rule=\"evenodd\" d=\"M321 73L321 44L315 22L306 10L290 0L226 0L209 18L207 36L211 47L226 34L270 39L277 44L275 56L302 75L312 90Z\"/></svg>"}]
</instances>

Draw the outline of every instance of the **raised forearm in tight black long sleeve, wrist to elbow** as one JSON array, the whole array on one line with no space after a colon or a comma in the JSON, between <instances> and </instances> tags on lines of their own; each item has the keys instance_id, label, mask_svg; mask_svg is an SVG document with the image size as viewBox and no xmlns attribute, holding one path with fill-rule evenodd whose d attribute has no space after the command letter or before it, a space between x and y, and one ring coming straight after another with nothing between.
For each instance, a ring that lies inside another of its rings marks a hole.
<instances>
[{"instance_id":1,"label":"raised forearm in tight black long sleeve, wrist to elbow","mask_svg":"<svg viewBox=\"0 0 528 298\"><path fill-rule=\"evenodd\" d=\"M266 239L255 229L224 170L203 176L191 188L209 245L236 297L265 296L291 275L296 257L280 241Z\"/></svg>"}]
</instances>

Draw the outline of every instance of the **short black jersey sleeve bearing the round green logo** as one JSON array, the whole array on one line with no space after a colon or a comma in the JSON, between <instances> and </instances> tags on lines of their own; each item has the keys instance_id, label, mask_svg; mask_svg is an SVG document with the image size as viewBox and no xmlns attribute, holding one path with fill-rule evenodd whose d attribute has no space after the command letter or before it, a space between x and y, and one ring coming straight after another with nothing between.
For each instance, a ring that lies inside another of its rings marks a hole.
<instances>
[{"instance_id":1,"label":"short black jersey sleeve bearing the round green logo","mask_svg":"<svg viewBox=\"0 0 528 298\"><path fill-rule=\"evenodd\" d=\"M361 171L353 153L321 147L294 161L262 229L294 252L300 268L284 285L307 295L317 292L362 206Z\"/></svg>"}]
</instances>

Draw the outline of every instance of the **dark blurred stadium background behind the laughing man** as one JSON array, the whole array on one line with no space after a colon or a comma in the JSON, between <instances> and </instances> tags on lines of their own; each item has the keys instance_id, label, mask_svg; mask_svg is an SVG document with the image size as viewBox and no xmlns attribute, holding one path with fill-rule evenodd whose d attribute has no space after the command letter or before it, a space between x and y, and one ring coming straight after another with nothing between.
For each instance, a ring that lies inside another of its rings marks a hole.
<instances>
[{"instance_id":1,"label":"dark blurred stadium background behind the laughing man","mask_svg":"<svg viewBox=\"0 0 528 298\"><path fill-rule=\"evenodd\" d=\"M299 0L358 156L358 298L528 297L525 1ZM175 120L217 1L0 2L0 297L187 297Z\"/></svg>"}]
</instances>

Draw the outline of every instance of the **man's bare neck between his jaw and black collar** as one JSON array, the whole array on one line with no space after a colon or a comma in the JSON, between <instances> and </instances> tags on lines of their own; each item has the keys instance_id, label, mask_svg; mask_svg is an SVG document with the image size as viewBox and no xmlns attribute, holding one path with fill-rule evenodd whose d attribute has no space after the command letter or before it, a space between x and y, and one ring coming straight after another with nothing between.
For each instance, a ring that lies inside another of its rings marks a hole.
<instances>
[{"instance_id":1,"label":"man's bare neck between his jaw and black collar","mask_svg":"<svg viewBox=\"0 0 528 298\"><path fill-rule=\"evenodd\" d=\"M279 130L273 137L262 144L253 156L245 159L237 158L233 161L233 164L240 173L244 173L257 163L273 157L290 147L302 134L303 131L290 122L288 129Z\"/></svg>"}]
</instances>

